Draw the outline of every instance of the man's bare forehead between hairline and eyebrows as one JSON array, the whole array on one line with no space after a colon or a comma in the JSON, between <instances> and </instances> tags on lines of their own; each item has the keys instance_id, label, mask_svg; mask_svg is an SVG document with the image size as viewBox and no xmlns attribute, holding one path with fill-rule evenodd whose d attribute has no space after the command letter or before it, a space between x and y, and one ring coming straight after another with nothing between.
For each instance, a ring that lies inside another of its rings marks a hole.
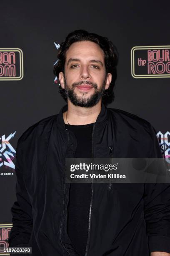
<instances>
[{"instance_id":1,"label":"man's bare forehead between hairline and eyebrows","mask_svg":"<svg viewBox=\"0 0 170 256\"><path fill-rule=\"evenodd\" d=\"M91 41L79 41L70 45L66 52L66 61L70 58L74 59L94 59L104 62L104 52L98 44Z\"/></svg>"}]
</instances>

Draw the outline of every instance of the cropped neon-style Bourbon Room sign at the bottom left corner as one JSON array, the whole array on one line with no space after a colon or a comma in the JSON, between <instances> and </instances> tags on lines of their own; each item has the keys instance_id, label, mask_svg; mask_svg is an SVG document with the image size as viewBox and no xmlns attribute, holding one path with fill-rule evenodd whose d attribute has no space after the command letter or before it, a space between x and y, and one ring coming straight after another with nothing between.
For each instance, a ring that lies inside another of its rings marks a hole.
<instances>
[{"instance_id":1,"label":"cropped neon-style Bourbon Room sign at the bottom left corner","mask_svg":"<svg viewBox=\"0 0 170 256\"><path fill-rule=\"evenodd\" d=\"M4 248L8 248L8 238L10 235L10 230L13 224L0 224L0 255L10 255L9 253L4 253Z\"/></svg>"}]
</instances>

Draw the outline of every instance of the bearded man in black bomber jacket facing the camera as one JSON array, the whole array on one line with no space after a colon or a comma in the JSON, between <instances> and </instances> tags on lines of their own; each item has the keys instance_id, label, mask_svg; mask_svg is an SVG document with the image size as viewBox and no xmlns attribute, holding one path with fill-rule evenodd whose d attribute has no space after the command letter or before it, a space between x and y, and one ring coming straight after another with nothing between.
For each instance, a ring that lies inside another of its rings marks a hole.
<instances>
[{"instance_id":1,"label":"bearded man in black bomber jacket facing the camera","mask_svg":"<svg viewBox=\"0 0 170 256\"><path fill-rule=\"evenodd\" d=\"M114 98L115 46L74 31L58 59L67 105L18 140L10 247L31 246L35 256L169 256L169 184L65 183L65 158L162 157L150 123L105 107Z\"/></svg>"}]
</instances>

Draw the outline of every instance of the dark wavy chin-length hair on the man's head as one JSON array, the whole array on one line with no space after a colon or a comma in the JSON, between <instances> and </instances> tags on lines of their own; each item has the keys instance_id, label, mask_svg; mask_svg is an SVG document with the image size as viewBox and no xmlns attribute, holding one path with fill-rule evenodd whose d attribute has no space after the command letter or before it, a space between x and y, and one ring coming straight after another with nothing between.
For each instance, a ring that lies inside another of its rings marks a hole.
<instances>
[{"instance_id":1,"label":"dark wavy chin-length hair on the man's head","mask_svg":"<svg viewBox=\"0 0 170 256\"><path fill-rule=\"evenodd\" d=\"M106 67L106 74L112 74L112 82L107 90L104 91L102 96L102 102L107 105L111 103L114 98L113 88L115 86L115 81L117 78L117 62L118 62L118 52L116 47L112 44L112 42L103 36L99 36L95 33L88 33L85 30L75 30L68 34L65 40L60 44L60 48L58 51L58 61L54 66L54 74L59 81L59 73L64 73L64 66L65 66L65 59L66 59L66 52L69 49L70 45L78 42L78 41L91 41L100 46L100 48L104 51L105 54L105 67ZM67 102L67 96L65 95L65 89L62 89L61 85L59 84L59 92Z\"/></svg>"}]
</instances>

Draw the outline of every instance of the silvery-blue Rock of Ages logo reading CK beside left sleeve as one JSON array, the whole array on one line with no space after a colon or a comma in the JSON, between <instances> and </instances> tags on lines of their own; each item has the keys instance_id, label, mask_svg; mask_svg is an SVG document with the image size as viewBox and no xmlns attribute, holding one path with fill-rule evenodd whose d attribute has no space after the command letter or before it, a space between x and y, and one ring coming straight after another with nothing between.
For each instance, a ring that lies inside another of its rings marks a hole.
<instances>
[{"instance_id":1,"label":"silvery-blue Rock of Ages logo reading CK beside left sleeve","mask_svg":"<svg viewBox=\"0 0 170 256\"><path fill-rule=\"evenodd\" d=\"M6 168L10 167L15 169L13 159L15 158L16 151L10 143L15 133L16 131L8 136L4 134L0 137L0 167L5 166ZM2 175L2 173L0 173L0 175Z\"/></svg>"}]
</instances>

